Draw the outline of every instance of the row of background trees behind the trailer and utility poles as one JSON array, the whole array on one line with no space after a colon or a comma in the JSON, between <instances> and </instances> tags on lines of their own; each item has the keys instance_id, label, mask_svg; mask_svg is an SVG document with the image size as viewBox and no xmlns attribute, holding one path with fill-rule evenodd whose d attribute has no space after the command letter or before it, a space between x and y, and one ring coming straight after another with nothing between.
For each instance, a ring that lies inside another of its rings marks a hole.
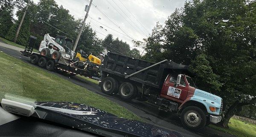
<instances>
[{"instance_id":1,"label":"row of background trees behind the trailer and utility poles","mask_svg":"<svg viewBox=\"0 0 256 137\"><path fill-rule=\"evenodd\" d=\"M1 0L0 37L10 41L14 40L27 3L27 0ZM14 19L14 9L17 9L17 20ZM59 6L55 0L40 0L37 4L30 1L16 43L25 46L29 36L32 35L37 37L35 48L38 48L44 38L44 34L47 33L52 37L61 35L76 40L81 22L81 19L76 19L70 14L69 10ZM82 49L86 53L93 53L96 56L101 54L105 48L108 51L128 56L134 56L134 54L131 54L132 50L139 53L137 49L130 49L128 43L122 42L118 38L113 40L113 43L103 43L103 41L96 35L90 23L87 23L82 31L76 50ZM118 46L115 44L118 44ZM122 51L121 49L125 50Z\"/></svg>"}]
</instances>

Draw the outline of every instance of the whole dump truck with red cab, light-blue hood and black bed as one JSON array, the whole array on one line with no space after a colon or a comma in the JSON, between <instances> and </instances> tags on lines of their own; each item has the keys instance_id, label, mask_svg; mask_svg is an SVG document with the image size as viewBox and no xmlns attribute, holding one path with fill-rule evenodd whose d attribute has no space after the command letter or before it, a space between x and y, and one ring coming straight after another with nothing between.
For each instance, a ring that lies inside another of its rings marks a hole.
<instances>
[{"instance_id":1,"label":"whole dump truck with red cab, light-blue hood and black bed","mask_svg":"<svg viewBox=\"0 0 256 137\"><path fill-rule=\"evenodd\" d=\"M180 116L183 126L200 129L221 120L221 97L195 86L186 65L163 60L153 63L109 52L102 62L99 86L122 100L148 101L159 110Z\"/></svg>"}]
</instances>

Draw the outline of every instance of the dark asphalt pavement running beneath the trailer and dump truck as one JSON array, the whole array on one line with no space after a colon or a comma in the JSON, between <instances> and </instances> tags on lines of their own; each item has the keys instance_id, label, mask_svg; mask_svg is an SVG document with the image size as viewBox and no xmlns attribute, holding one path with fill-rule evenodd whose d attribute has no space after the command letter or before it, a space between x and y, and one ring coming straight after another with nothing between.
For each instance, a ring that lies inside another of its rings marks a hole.
<instances>
[{"instance_id":1,"label":"dark asphalt pavement running beneath the trailer and dump truck","mask_svg":"<svg viewBox=\"0 0 256 137\"><path fill-rule=\"evenodd\" d=\"M20 50L23 50L21 48L17 48L15 46L11 46L5 43L0 42L0 51L9 54L13 57L19 58L20 60L24 61L25 63L29 63L29 58L24 57L21 55ZM32 65L32 64L31 64ZM35 66L38 67L38 66ZM38 67L39 68L39 67ZM44 71L47 71L44 69ZM51 72L58 75L59 77L62 77L66 80L71 81L72 83L75 83L79 86L82 86L84 88L87 88L90 91L93 91L97 94L100 94L109 100L118 103L120 106L123 106L127 108L129 111L137 114L137 116L142 117L145 122L160 126L162 128L166 128L172 131L177 131L181 135L185 137L198 137L198 136L210 136L210 137L229 137L231 135L225 134L223 132L220 132L218 130L204 127L201 130L195 131L190 129L185 129L181 123L179 117L177 117L175 114L172 114L170 112L163 112L158 111L157 106L152 106L149 103L146 102L140 102L138 100L132 100L131 102L124 102L118 98L118 95L115 96L108 96L101 92L100 87L96 84L90 83L85 80L80 80L77 77L70 78L67 75L63 75L57 72Z\"/></svg>"}]
</instances>

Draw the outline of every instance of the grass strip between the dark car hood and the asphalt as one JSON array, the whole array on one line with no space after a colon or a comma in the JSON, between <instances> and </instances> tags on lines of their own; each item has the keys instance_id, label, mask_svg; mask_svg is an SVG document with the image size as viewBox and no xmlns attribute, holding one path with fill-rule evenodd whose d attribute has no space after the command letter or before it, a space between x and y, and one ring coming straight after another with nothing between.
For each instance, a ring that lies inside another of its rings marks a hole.
<instances>
[{"instance_id":1,"label":"grass strip between the dark car hood and the asphalt","mask_svg":"<svg viewBox=\"0 0 256 137\"><path fill-rule=\"evenodd\" d=\"M141 120L134 113L105 97L0 52L0 100L15 94L37 101L68 101L84 103L119 117Z\"/></svg>"}]
</instances>

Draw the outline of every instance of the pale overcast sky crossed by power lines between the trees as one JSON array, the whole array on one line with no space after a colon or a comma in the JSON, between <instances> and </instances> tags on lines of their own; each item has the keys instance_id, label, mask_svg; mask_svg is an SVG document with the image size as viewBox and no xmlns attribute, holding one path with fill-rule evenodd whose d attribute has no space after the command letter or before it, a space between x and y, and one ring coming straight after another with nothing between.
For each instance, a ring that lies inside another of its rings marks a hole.
<instances>
[{"instance_id":1,"label":"pale overcast sky crossed by power lines between the trees","mask_svg":"<svg viewBox=\"0 0 256 137\"><path fill-rule=\"evenodd\" d=\"M33 1L38 3L39 0ZM81 19L83 19L86 14L84 11L85 6L89 5L89 0L55 1L58 5L62 5L65 9L68 9L70 14L75 18ZM134 46L131 40L142 40L147 37L157 21L163 24L176 8L183 6L185 1L186 0L93 0L94 6L90 8L86 23L90 23L99 38L104 39L107 34L113 34L114 38L119 37L119 40L130 44L132 49ZM105 17L95 6L103 11L113 22ZM139 50L143 51L143 49Z\"/></svg>"}]
</instances>

